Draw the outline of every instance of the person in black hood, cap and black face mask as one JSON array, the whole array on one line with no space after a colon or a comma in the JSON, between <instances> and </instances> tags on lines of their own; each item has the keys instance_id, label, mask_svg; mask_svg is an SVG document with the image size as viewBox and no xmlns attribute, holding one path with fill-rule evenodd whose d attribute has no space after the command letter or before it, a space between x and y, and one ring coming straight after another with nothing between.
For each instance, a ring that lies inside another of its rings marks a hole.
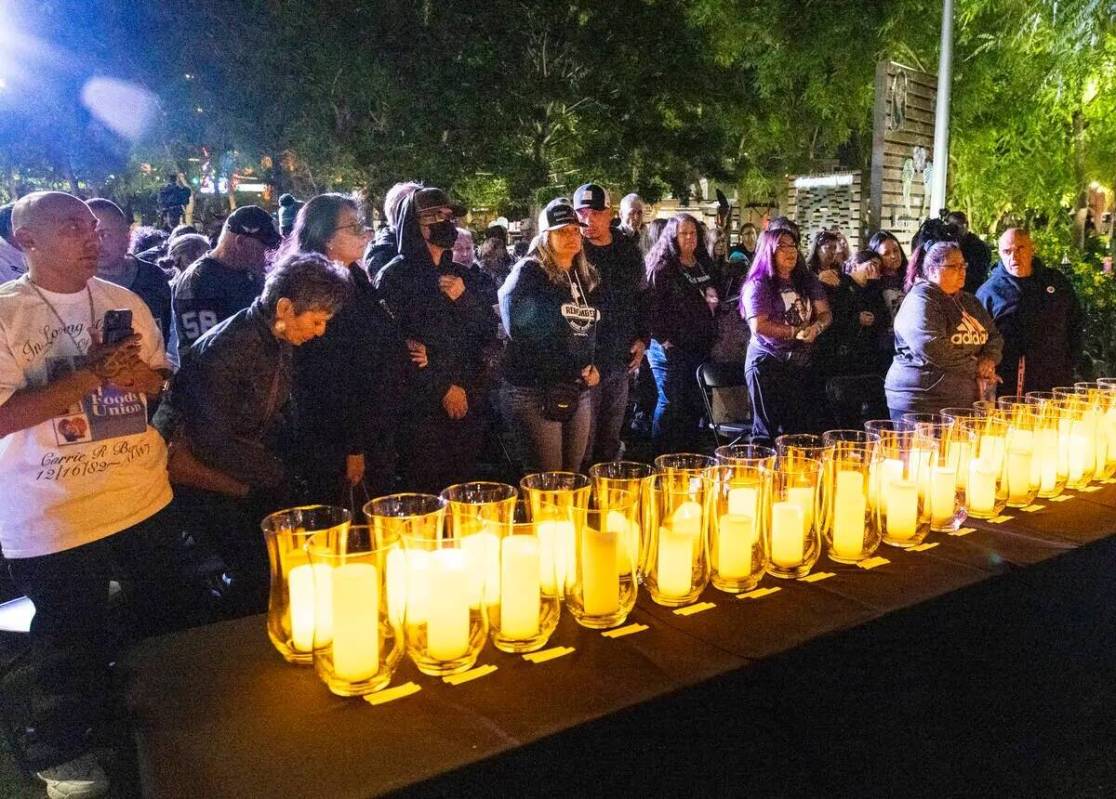
<instances>
[{"instance_id":1,"label":"person in black hood, cap and black face mask","mask_svg":"<svg viewBox=\"0 0 1116 799\"><path fill-rule=\"evenodd\" d=\"M405 388L400 465L410 490L437 493L474 476L484 435L485 350L496 318L469 269L453 262L454 212L441 189L403 199L397 254L375 278L382 307L426 348Z\"/></svg>"}]
</instances>

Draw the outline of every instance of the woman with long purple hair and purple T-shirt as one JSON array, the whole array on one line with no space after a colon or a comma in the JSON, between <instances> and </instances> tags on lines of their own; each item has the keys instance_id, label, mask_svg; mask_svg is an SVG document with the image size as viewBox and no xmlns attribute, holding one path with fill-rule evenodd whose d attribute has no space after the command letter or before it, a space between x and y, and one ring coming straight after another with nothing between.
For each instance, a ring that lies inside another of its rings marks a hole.
<instances>
[{"instance_id":1,"label":"woman with long purple hair and purple T-shirt","mask_svg":"<svg viewBox=\"0 0 1116 799\"><path fill-rule=\"evenodd\" d=\"M744 362L752 441L770 445L783 433L812 430L824 402L824 381L811 365L814 341L833 314L798 250L796 230L770 227L760 235L740 314L752 330Z\"/></svg>"}]
</instances>

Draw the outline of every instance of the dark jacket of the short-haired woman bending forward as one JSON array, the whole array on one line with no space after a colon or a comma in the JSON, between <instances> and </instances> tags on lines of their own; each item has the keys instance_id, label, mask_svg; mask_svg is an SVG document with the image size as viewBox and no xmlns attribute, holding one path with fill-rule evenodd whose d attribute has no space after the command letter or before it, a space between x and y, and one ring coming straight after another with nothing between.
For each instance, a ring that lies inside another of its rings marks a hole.
<instances>
[{"instance_id":1,"label":"dark jacket of the short-haired woman bending forward","mask_svg":"<svg viewBox=\"0 0 1116 799\"><path fill-rule=\"evenodd\" d=\"M252 488L281 485L291 349L271 333L257 300L185 352L155 426L170 436L181 424L200 461Z\"/></svg>"}]
</instances>

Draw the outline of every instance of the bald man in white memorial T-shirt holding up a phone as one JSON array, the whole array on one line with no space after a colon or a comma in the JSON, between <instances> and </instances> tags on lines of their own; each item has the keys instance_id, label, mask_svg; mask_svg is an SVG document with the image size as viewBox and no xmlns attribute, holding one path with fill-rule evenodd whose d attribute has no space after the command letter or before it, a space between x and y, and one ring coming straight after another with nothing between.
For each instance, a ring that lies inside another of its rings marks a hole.
<instances>
[{"instance_id":1,"label":"bald man in white memorial T-shirt holding up a phone","mask_svg":"<svg viewBox=\"0 0 1116 799\"><path fill-rule=\"evenodd\" d=\"M88 751L109 685L108 583L132 588L135 629L169 626L185 590L172 564L166 447L146 403L169 376L147 306L95 277L97 219L75 196L37 192L12 211L28 273L0 286L0 546L35 604L28 751L50 796L98 796ZM105 314L135 331L103 344ZM176 590L181 593L176 594Z\"/></svg>"}]
</instances>

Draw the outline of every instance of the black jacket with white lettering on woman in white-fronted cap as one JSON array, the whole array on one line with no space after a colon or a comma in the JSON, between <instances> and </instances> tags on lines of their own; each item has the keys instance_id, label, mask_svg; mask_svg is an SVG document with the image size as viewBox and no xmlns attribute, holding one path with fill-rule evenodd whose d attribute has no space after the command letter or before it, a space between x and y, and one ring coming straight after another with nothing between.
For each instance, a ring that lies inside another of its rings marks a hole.
<instances>
[{"instance_id":1,"label":"black jacket with white lettering on woman in white-fronted cap","mask_svg":"<svg viewBox=\"0 0 1116 799\"><path fill-rule=\"evenodd\" d=\"M552 282L533 258L512 267L500 288L508 383L545 388L580 379L581 369L594 363L599 312L591 305L571 306L569 285Z\"/></svg>"}]
</instances>

